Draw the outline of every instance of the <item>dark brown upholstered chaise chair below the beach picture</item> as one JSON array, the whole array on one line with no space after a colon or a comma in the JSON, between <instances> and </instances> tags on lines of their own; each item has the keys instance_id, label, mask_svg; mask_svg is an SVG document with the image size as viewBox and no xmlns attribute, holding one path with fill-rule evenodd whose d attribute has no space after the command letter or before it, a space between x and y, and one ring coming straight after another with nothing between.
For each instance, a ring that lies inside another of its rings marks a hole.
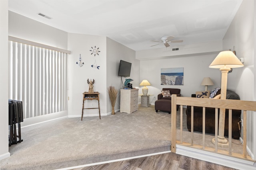
<instances>
[{"instance_id":1,"label":"dark brown upholstered chaise chair below the beach picture","mask_svg":"<svg viewBox=\"0 0 256 170\"><path fill-rule=\"evenodd\" d=\"M171 95L172 94L177 94L177 96L181 96L180 95L180 89L178 89L178 88L163 88L162 90L163 91L164 90L169 90ZM170 114L171 111L172 111L171 100L172 100L172 97L163 97L162 93L158 94L157 100L155 102L156 112L158 112L158 110L161 110L161 111L168 111L169 114ZM180 105L177 105L177 110L179 109L179 107L180 107Z\"/></svg>"}]
</instances>

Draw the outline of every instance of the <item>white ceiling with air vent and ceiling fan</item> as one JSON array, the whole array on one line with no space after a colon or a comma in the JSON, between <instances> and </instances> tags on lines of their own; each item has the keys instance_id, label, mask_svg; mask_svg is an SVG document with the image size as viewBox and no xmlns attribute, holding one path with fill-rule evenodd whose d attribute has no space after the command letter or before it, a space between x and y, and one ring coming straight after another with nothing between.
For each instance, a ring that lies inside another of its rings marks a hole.
<instances>
[{"instance_id":1,"label":"white ceiling with air vent and ceiling fan","mask_svg":"<svg viewBox=\"0 0 256 170\"><path fill-rule=\"evenodd\" d=\"M9 0L9 10L69 33L102 35L135 51L150 40L222 40L242 0ZM45 14L52 19L39 16ZM168 47L168 48L171 48Z\"/></svg>"}]
</instances>

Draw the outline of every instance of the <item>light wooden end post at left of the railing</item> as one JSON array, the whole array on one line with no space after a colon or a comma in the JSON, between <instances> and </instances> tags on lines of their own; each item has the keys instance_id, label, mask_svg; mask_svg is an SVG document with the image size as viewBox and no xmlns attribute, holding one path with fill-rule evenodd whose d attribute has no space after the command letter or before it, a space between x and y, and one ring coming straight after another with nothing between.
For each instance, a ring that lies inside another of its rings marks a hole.
<instances>
[{"instance_id":1,"label":"light wooden end post at left of the railing","mask_svg":"<svg viewBox=\"0 0 256 170\"><path fill-rule=\"evenodd\" d=\"M171 151L174 153L176 153L176 114L177 114L176 98L177 98L177 94L172 94Z\"/></svg>"}]
</instances>

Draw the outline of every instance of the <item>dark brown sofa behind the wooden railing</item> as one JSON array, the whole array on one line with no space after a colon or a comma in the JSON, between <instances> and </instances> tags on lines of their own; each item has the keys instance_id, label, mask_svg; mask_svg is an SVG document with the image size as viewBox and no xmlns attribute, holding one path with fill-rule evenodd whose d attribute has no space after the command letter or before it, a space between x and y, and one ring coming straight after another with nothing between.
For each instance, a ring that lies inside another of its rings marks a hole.
<instances>
[{"instance_id":1,"label":"dark brown sofa behind the wooden railing","mask_svg":"<svg viewBox=\"0 0 256 170\"><path fill-rule=\"evenodd\" d=\"M221 90L218 90L215 96L220 94ZM226 99L240 100L239 96L230 90L227 90ZM194 107L194 131L202 132L202 107ZM187 106L187 128L191 131L191 106ZM232 110L232 138L239 139L240 130L238 122L240 121L241 110ZM219 117L219 115L218 115ZM205 132L215 133L215 108L205 108ZM228 136L228 109L225 112L225 129L224 135Z\"/></svg>"}]
</instances>

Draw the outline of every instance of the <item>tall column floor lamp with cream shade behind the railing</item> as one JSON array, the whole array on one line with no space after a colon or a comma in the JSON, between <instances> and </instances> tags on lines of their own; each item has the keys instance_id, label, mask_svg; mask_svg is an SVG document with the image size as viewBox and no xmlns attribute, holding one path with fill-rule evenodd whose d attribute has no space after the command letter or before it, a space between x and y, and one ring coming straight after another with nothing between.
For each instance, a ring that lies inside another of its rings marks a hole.
<instances>
[{"instance_id":1,"label":"tall column floor lamp with cream shade behind the railing","mask_svg":"<svg viewBox=\"0 0 256 170\"><path fill-rule=\"evenodd\" d=\"M228 81L228 71L230 68L242 67L244 64L236 57L232 51L222 51L210 64L210 68L220 68L221 71L221 91L220 99L226 100L227 93L227 81ZM218 146L228 147L228 141L224 137L224 127L225 127L225 109L220 108L219 117L219 133L218 133ZM212 143L215 140L212 139Z\"/></svg>"}]
</instances>

